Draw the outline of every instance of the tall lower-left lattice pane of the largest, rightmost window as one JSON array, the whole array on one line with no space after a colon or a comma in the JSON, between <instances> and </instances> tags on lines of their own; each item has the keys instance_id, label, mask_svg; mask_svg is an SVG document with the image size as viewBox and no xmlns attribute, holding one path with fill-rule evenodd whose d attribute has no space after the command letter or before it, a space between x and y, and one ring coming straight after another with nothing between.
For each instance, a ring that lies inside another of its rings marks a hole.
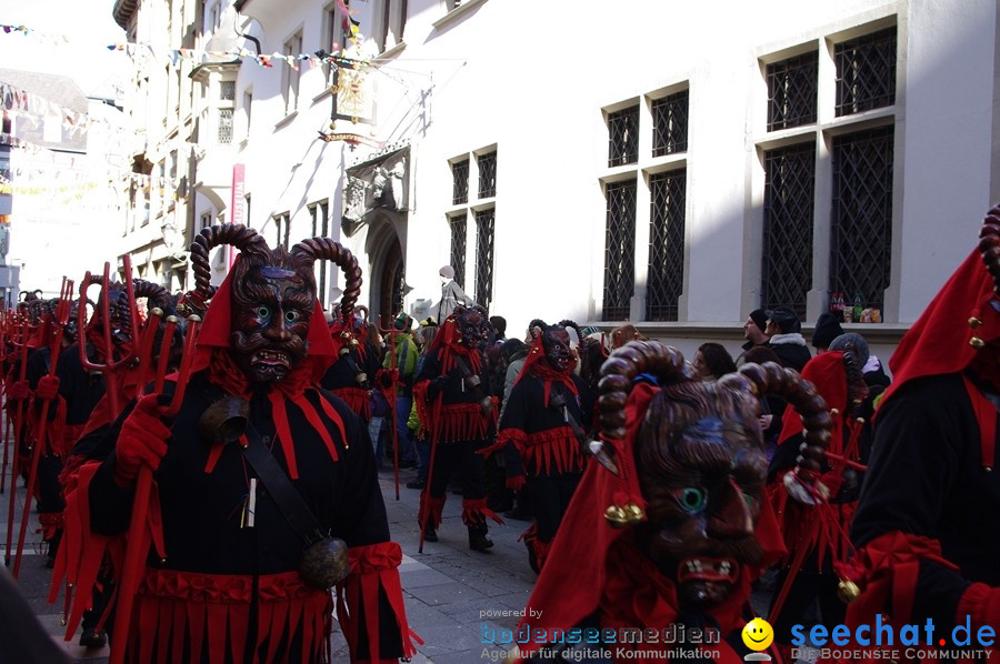
<instances>
[{"instance_id":1,"label":"tall lower-left lattice pane of the largest, rightmost window","mask_svg":"<svg viewBox=\"0 0 1000 664\"><path fill-rule=\"evenodd\" d=\"M812 288L816 144L764 152L763 255L760 301L806 316Z\"/></svg>"}]
</instances>

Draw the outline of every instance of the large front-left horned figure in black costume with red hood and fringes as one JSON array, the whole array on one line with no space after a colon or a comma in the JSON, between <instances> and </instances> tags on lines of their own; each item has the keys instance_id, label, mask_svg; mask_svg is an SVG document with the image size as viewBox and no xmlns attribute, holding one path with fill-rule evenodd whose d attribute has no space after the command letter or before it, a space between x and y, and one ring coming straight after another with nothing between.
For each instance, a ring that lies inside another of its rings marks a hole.
<instances>
[{"instance_id":1,"label":"large front-left horned figure in black costume with red hood and fringes","mask_svg":"<svg viewBox=\"0 0 1000 664\"><path fill-rule=\"evenodd\" d=\"M271 251L252 229L214 227L191 247L202 292L209 250L222 243L240 255L211 300L190 375L178 379L182 399L168 388L138 400L114 452L80 479L94 533L116 535L137 479L154 472L156 500L133 507L149 510L149 540L142 527L129 535L152 546L124 620L126 657L329 662L334 584L351 662L411 656L401 552L367 427L317 388L336 353L313 263L343 269L350 315L357 260L328 239Z\"/></svg>"}]
</instances>

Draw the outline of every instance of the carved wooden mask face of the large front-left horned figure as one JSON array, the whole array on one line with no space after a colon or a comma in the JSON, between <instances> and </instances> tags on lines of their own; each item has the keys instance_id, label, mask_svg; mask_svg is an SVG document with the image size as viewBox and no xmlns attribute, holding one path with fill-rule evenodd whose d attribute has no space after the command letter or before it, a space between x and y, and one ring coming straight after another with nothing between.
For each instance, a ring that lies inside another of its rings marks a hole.
<instances>
[{"instance_id":1,"label":"carved wooden mask face of the large front-left horned figure","mask_svg":"<svg viewBox=\"0 0 1000 664\"><path fill-rule=\"evenodd\" d=\"M284 379L306 359L312 280L283 261L252 265L232 280L232 346L237 365L251 382ZM236 275L233 275L236 276Z\"/></svg>"}]
</instances>

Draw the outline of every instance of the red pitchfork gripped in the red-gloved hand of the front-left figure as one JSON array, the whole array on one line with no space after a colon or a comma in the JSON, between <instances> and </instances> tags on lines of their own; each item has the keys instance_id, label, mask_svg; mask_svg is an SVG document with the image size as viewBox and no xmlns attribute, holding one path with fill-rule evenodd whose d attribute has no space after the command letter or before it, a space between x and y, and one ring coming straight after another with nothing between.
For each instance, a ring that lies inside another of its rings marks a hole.
<instances>
[{"instance_id":1,"label":"red pitchfork gripped in the red-gloved hand of the front-left figure","mask_svg":"<svg viewBox=\"0 0 1000 664\"><path fill-rule=\"evenodd\" d=\"M172 316L170 316L172 318ZM156 390L160 393L166 381L167 362L164 355L170 352L170 342L173 336L173 325L177 323L167 319L169 335L163 335L160 344L160 359L157 363ZM194 342L198 339L198 328L201 319L197 315L188 316L188 331L184 336L184 351L181 358L180 370L177 376L177 386L170 405L164 416L172 417L180 411L184 400L184 391L191 378L191 365L194 362ZM156 321L150 318L149 328L143 335L143 345L152 344L151 338L156 333ZM146 342L146 338L150 338ZM147 355L148 358L148 355ZM140 385L140 390L143 385ZM141 393L141 392L140 392ZM146 520L149 515L149 497L152 493L152 470L142 465L139 467L139 476L136 479L136 497L132 501L132 516L129 522L129 542L126 547L124 564L122 565L121 583L118 587L118 607L114 613L114 628L111 632L111 664L124 662L126 643L129 636L129 627L132 622L132 605L136 600L136 588L139 586L139 577L142 573L143 561L149 553L149 540L146 536Z\"/></svg>"}]
</instances>

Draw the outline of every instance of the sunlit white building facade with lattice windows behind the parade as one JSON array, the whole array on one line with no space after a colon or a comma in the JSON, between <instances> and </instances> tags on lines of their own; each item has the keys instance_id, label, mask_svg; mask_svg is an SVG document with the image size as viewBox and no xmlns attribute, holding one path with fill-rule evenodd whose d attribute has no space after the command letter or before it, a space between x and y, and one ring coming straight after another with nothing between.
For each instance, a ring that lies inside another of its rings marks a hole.
<instances>
[{"instance_id":1,"label":"sunlit white building facade with lattice windows behind the parade","mask_svg":"<svg viewBox=\"0 0 1000 664\"><path fill-rule=\"evenodd\" d=\"M629 321L690 355L843 293L887 358L1000 199L992 0L353 0L357 68L297 69L268 56L338 51L341 3L219 2L202 43L271 66L188 77L187 239L331 237L372 314L426 315L451 264L509 335Z\"/></svg>"}]
</instances>

